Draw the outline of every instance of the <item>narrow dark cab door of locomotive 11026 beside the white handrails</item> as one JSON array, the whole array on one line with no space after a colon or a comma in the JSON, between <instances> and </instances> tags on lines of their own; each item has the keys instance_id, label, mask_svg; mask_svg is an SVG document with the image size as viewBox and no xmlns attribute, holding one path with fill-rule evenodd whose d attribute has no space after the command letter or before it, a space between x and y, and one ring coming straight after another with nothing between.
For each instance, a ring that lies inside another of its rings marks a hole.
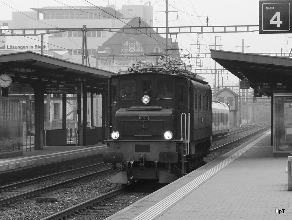
<instances>
[{"instance_id":1,"label":"narrow dark cab door of locomotive 11026 beside the white handrails","mask_svg":"<svg viewBox=\"0 0 292 220\"><path fill-rule=\"evenodd\" d=\"M188 93L188 86L187 81L179 80L176 82L176 100L177 100L177 106L176 106L176 132L177 132L177 138L181 138L181 114L186 114L186 122L188 123L188 113L189 106L190 106L190 94ZM185 116L183 116L183 121L185 121ZM183 124L183 138L185 138L185 126Z\"/></svg>"}]
</instances>

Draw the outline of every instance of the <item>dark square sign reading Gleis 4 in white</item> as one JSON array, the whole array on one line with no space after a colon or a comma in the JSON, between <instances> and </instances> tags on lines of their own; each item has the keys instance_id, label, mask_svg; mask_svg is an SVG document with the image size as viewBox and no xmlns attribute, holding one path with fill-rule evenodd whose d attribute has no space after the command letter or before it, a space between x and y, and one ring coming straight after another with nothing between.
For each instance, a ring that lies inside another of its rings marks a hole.
<instances>
[{"instance_id":1,"label":"dark square sign reading Gleis 4 in white","mask_svg":"<svg viewBox=\"0 0 292 220\"><path fill-rule=\"evenodd\" d=\"M259 33L292 33L292 0L259 1Z\"/></svg>"}]
</instances>

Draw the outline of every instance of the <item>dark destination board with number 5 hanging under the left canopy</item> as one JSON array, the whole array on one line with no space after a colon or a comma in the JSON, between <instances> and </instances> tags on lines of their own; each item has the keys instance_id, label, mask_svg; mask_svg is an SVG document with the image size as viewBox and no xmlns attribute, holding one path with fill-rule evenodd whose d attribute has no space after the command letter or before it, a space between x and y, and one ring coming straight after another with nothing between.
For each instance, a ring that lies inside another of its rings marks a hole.
<instances>
[{"instance_id":1,"label":"dark destination board with number 5 hanging under the left canopy","mask_svg":"<svg viewBox=\"0 0 292 220\"><path fill-rule=\"evenodd\" d=\"M46 84L44 94L80 94L79 84Z\"/></svg>"}]
</instances>

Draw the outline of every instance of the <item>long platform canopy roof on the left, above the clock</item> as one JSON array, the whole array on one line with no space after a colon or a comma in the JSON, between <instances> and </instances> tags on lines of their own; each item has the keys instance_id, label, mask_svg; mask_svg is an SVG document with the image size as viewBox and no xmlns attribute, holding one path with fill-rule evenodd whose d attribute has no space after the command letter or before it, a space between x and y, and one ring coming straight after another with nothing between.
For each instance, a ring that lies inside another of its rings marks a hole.
<instances>
[{"instance_id":1,"label":"long platform canopy roof on the left, above the clock","mask_svg":"<svg viewBox=\"0 0 292 220\"><path fill-rule=\"evenodd\" d=\"M107 88L107 79L113 72L72 63L53 56L31 51L1 54L0 71L6 71L14 82L23 84L76 84L87 87Z\"/></svg>"}]
</instances>

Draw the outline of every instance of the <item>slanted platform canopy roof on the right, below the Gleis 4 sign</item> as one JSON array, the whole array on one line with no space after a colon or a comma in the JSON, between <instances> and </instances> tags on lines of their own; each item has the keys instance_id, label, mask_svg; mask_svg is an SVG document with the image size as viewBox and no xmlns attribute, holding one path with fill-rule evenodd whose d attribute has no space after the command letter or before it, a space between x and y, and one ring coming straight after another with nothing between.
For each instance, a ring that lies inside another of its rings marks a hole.
<instances>
[{"instance_id":1,"label":"slanted platform canopy roof on the right, below the Gleis 4 sign","mask_svg":"<svg viewBox=\"0 0 292 220\"><path fill-rule=\"evenodd\" d=\"M282 83L292 88L292 58L222 50L211 50L211 58L239 79L248 79L253 89L260 83Z\"/></svg>"}]
</instances>

